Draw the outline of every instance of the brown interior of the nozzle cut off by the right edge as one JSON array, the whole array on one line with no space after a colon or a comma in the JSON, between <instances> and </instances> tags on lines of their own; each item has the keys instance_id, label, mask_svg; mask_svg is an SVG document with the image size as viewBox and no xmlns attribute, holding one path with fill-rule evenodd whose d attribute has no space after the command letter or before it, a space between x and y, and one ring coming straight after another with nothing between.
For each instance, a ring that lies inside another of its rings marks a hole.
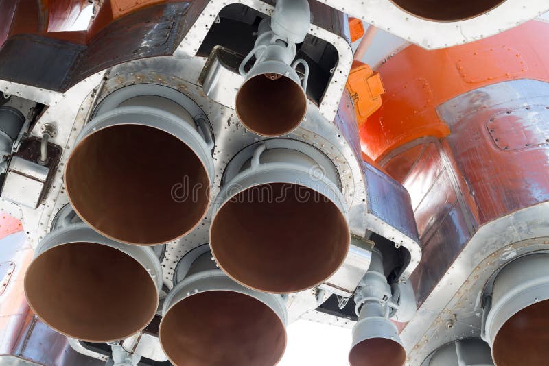
<instances>
[{"instance_id":1,"label":"brown interior of the nozzle cut off by the right edge","mask_svg":"<svg viewBox=\"0 0 549 366\"><path fill-rule=\"evenodd\" d=\"M498 366L547 365L549 300L513 315L495 335L492 356Z\"/></svg>"}]
</instances>

